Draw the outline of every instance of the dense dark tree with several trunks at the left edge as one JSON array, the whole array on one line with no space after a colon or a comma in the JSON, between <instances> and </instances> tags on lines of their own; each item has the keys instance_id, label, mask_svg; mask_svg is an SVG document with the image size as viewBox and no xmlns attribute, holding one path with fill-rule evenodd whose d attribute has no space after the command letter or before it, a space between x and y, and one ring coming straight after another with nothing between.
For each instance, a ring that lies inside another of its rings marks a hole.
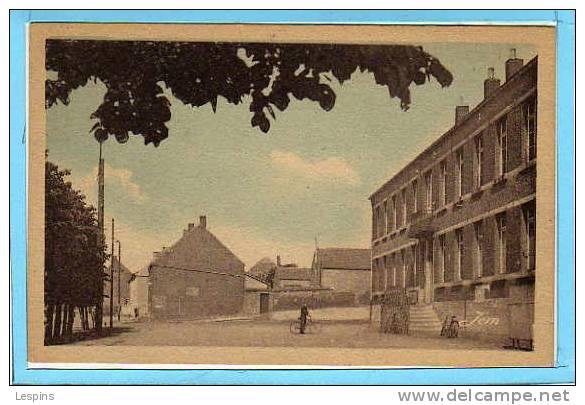
<instances>
[{"instance_id":1,"label":"dense dark tree with several trunks at the left edge","mask_svg":"<svg viewBox=\"0 0 585 405\"><path fill-rule=\"evenodd\" d=\"M106 254L96 212L66 181L69 174L45 163L46 342L70 336L74 309L100 305L103 295Z\"/></svg>"}]
</instances>

